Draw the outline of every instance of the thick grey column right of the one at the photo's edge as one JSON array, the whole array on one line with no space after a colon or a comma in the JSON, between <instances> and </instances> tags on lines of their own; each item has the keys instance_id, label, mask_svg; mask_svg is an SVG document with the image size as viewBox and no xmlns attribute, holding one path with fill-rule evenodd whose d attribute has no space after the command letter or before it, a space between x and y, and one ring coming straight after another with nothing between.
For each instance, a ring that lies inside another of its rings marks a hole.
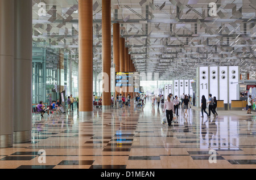
<instances>
[{"instance_id":1,"label":"thick grey column right of the one at the photo's edge","mask_svg":"<svg viewBox=\"0 0 256 180\"><path fill-rule=\"evenodd\" d=\"M14 5L14 143L31 141L32 130L32 1ZM2 89L1 89L2 91ZM10 100L9 100L10 101ZM21 108L26 107L26 108Z\"/></svg>"}]
</instances>

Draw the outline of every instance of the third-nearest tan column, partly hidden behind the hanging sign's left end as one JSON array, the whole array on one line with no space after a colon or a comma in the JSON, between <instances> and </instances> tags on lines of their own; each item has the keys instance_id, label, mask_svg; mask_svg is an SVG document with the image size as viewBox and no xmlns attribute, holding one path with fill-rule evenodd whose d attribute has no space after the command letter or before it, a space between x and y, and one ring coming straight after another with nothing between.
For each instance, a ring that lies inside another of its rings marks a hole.
<instances>
[{"instance_id":1,"label":"third-nearest tan column, partly hidden behind the hanging sign's left end","mask_svg":"<svg viewBox=\"0 0 256 180\"><path fill-rule=\"evenodd\" d=\"M120 24L113 24L113 58L115 64L115 72L120 71ZM120 88L115 87L115 96L120 93Z\"/></svg>"}]
</instances>

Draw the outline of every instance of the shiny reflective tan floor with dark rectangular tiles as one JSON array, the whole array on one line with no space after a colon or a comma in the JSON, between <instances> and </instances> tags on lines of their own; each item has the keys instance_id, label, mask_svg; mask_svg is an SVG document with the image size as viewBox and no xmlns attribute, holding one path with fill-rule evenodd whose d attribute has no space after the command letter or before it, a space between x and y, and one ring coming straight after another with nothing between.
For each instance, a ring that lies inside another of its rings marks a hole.
<instances>
[{"instance_id":1,"label":"shiny reflective tan floor with dark rectangular tiles","mask_svg":"<svg viewBox=\"0 0 256 180\"><path fill-rule=\"evenodd\" d=\"M0 149L0 168L256 168L255 112L201 118L196 108L188 117L179 109L171 127L162 114L151 100L144 108L94 108L93 118L34 114L32 142Z\"/></svg>"}]
</instances>

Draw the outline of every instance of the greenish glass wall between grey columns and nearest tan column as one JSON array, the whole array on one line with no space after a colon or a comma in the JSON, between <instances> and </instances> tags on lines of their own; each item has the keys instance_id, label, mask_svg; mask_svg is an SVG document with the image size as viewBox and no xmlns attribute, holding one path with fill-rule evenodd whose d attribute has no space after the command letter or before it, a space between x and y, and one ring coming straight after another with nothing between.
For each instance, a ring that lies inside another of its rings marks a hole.
<instances>
[{"instance_id":1,"label":"greenish glass wall between grey columns and nearest tan column","mask_svg":"<svg viewBox=\"0 0 256 180\"><path fill-rule=\"evenodd\" d=\"M52 100L60 99L60 93L64 102L71 94L78 96L78 62L68 52L34 46L32 59L32 104L43 101L49 105Z\"/></svg>"}]
</instances>

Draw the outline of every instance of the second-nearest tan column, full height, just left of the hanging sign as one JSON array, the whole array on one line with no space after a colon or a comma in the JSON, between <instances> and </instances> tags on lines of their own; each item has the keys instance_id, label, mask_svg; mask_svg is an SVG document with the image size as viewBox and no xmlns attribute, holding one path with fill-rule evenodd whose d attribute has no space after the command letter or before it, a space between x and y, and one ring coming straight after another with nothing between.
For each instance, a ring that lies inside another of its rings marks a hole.
<instances>
[{"instance_id":1,"label":"second-nearest tan column, full height, just left of the hanging sign","mask_svg":"<svg viewBox=\"0 0 256 180\"><path fill-rule=\"evenodd\" d=\"M102 1L102 108L110 109L111 0Z\"/></svg>"}]
</instances>

